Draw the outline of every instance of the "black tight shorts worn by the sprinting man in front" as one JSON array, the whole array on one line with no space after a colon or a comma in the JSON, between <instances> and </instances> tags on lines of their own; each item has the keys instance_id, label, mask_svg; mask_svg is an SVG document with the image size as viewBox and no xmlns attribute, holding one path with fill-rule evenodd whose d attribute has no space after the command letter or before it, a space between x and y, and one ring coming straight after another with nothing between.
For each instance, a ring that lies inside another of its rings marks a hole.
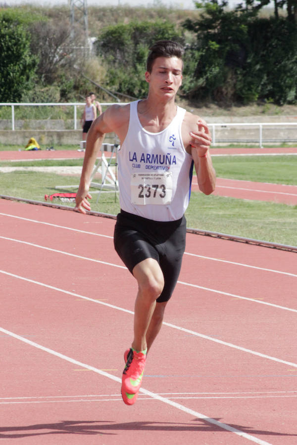
<instances>
[{"instance_id":1,"label":"black tight shorts worn by the sprinting man in front","mask_svg":"<svg viewBox=\"0 0 297 445\"><path fill-rule=\"evenodd\" d=\"M159 222L124 212L117 215L114 227L114 247L131 273L147 258L153 258L161 267L164 288L156 300L168 301L173 293L182 265L186 245L186 218Z\"/></svg>"}]
</instances>

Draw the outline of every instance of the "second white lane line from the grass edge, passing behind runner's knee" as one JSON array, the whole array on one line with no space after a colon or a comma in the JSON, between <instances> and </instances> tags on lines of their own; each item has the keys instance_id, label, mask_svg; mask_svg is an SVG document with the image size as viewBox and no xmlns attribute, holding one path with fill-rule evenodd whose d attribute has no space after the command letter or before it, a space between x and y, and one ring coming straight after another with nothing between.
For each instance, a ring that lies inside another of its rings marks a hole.
<instances>
[{"instance_id":1,"label":"second white lane line from the grass edge, passing behind runner's knee","mask_svg":"<svg viewBox=\"0 0 297 445\"><path fill-rule=\"evenodd\" d=\"M96 260L94 258L82 257L81 255L71 254L71 253L68 253L68 252L64 252L62 250L51 249L50 247L41 246L39 244L33 244L33 243L30 243L30 242L27 242L27 241L20 241L18 239L14 239L14 238L7 238L6 236L0 236L0 238L8 240L8 241L14 241L14 242L21 243L21 244L27 244L29 246L37 247L39 249L49 250L50 252L60 253L62 255L68 255L70 257L79 258L80 260L92 261L94 263L100 263L100 264L104 264L106 266L119 267L121 269L128 270L127 267L125 267L125 266L120 266L120 265L113 264L113 263L107 263L105 261ZM253 303L258 303L258 304L261 304L261 305L271 306L271 307L277 308L277 309L283 309L285 311L297 312L297 309L291 309L291 308L287 308L286 306L280 306L280 305L276 305L274 303L268 303L268 302L265 302L265 301L255 300L255 299L249 298L249 297L242 297L241 295L231 294L229 292L223 292L223 291L220 291L220 290L211 289L209 287L199 286L198 284L187 283L185 281L177 281L177 283L178 284L183 284L184 286L190 286L190 287L195 287L197 289L206 290L208 292L214 292L215 294L226 295L227 297L234 297L234 298L238 298L240 300L247 300L247 301L251 301Z\"/></svg>"}]
</instances>

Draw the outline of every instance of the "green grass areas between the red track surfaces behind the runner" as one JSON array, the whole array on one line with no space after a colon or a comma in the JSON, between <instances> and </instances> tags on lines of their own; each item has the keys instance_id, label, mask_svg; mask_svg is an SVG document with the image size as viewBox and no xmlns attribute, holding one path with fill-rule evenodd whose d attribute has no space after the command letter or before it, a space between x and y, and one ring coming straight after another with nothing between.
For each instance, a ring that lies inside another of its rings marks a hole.
<instances>
[{"instance_id":1,"label":"green grass areas between the red track surfaces behind the runner","mask_svg":"<svg viewBox=\"0 0 297 445\"><path fill-rule=\"evenodd\" d=\"M43 160L30 162L30 166L81 166L82 162L82 159ZM297 185L297 156L216 156L213 164L218 177ZM29 168L28 162L0 162L0 167L3 166ZM28 169L0 173L0 193L44 201L45 194L69 192L64 186L78 182L79 176L38 173ZM56 185L60 188L55 189ZM74 203L63 204L74 206ZM97 203L94 194L92 210L115 215L119 211L118 197L114 192L102 193ZM297 246L297 206L193 192L186 218L188 227Z\"/></svg>"}]
</instances>

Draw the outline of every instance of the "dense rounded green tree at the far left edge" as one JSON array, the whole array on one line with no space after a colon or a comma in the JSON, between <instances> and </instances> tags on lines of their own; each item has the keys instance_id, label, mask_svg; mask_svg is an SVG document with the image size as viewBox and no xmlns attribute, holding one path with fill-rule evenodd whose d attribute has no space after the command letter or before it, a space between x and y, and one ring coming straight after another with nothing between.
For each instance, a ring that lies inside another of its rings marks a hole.
<instances>
[{"instance_id":1,"label":"dense rounded green tree at the far left edge","mask_svg":"<svg viewBox=\"0 0 297 445\"><path fill-rule=\"evenodd\" d=\"M0 17L0 101L17 102L35 79L37 58L30 50L30 35L17 20Z\"/></svg>"}]
</instances>

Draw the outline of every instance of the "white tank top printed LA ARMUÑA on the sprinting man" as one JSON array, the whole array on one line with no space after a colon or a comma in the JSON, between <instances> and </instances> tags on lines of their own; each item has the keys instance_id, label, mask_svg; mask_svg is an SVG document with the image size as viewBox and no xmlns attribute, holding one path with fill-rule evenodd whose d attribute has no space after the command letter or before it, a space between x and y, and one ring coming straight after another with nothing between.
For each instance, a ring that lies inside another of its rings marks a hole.
<instances>
[{"instance_id":1,"label":"white tank top printed LA ARMU\u00d1A on the sprinting man","mask_svg":"<svg viewBox=\"0 0 297 445\"><path fill-rule=\"evenodd\" d=\"M193 158L181 136L186 110L159 133L145 130L137 104L130 104L129 128L118 152L120 206L126 212L153 221L176 221L190 199Z\"/></svg>"}]
</instances>

